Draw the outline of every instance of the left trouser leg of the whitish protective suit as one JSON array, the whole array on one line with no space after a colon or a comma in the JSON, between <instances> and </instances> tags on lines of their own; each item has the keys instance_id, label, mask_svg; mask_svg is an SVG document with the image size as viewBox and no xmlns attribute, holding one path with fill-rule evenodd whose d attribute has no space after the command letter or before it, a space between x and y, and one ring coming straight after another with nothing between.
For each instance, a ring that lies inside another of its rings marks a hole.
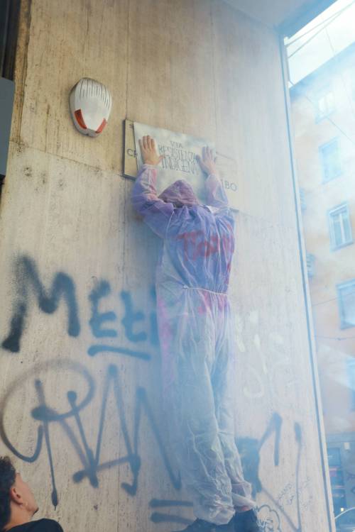
<instances>
[{"instance_id":1,"label":"left trouser leg of the whitish protective suit","mask_svg":"<svg viewBox=\"0 0 355 532\"><path fill-rule=\"evenodd\" d=\"M170 440L195 515L224 524L234 515L234 505L215 414L212 329L213 324L204 323L203 317L194 326L184 320L177 326L178 343L170 353L175 377L165 399Z\"/></svg>"}]
</instances>

